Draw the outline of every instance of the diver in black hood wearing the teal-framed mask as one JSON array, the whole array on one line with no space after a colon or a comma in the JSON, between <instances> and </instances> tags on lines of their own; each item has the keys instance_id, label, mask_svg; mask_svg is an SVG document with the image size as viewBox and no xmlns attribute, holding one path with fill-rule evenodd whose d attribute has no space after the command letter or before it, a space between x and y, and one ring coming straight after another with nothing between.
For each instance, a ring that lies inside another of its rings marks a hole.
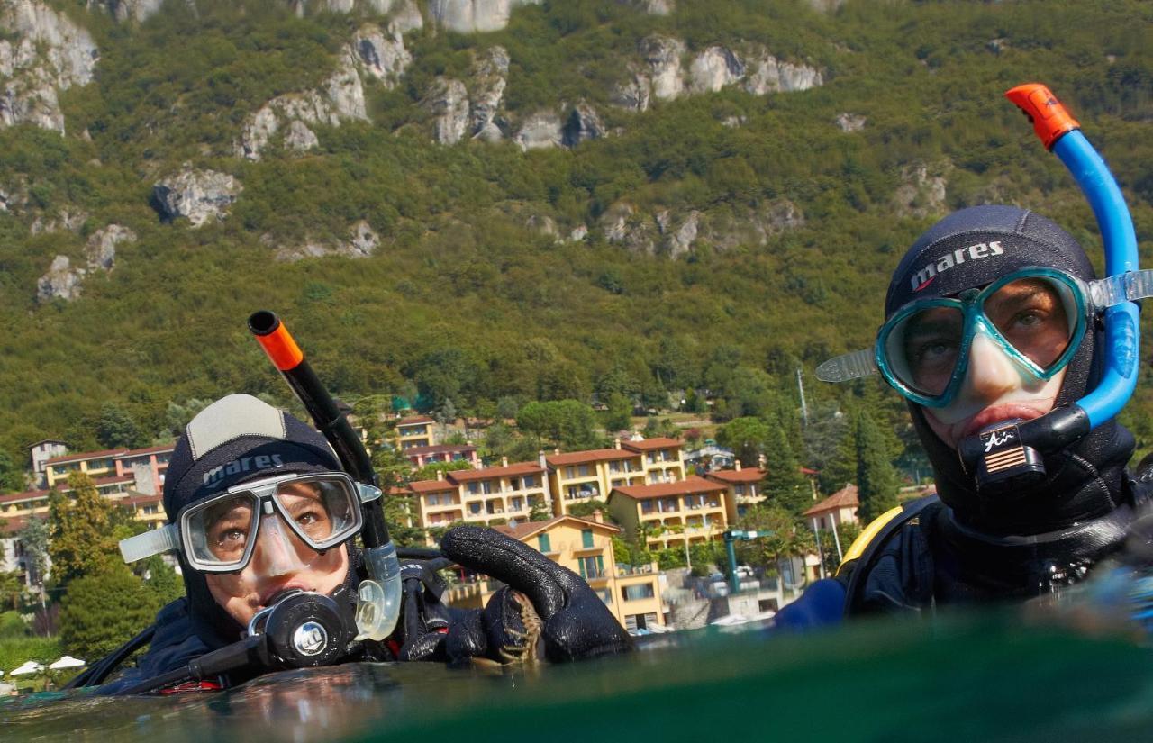
<instances>
[{"instance_id":1,"label":"diver in black hood wearing the teal-framed mask","mask_svg":"<svg viewBox=\"0 0 1153 743\"><path fill-rule=\"evenodd\" d=\"M889 286L879 347L936 495L874 522L836 578L785 607L778 626L1037 597L1124 545L1153 471L1126 471L1133 437L1116 420L1045 455L1045 476L1024 485L979 486L958 457L965 437L1095 387L1105 356L1100 312L1084 296L1093 279L1071 235L1012 206L962 210L917 240Z\"/></svg>"}]
</instances>

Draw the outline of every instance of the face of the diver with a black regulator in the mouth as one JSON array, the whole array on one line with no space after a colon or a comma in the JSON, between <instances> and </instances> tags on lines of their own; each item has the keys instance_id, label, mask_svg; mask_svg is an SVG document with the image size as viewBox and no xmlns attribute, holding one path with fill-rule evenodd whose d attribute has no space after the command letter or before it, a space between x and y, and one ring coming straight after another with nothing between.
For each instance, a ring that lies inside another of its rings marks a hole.
<instances>
[{"instance_id":1,"label":"face of the diver with a black regulator in the mouth","mask_svg":"<svg viewBox=\"0 0 1153 743\"><path fill-rule=\"evenodd\" d=\"M296 496L284 493L281 502L286 503L288 513L301 526L312 533L312 530L323 526L323 516L312 506L315 488L308 484L293 487L299 487L301 492ZM214 539L221 545L242 539L243 534L236 533L236 525L250 522L243 514L231 514L219 521L223 526ZM229 523L232 529L228 529ZM344 545L321 554L302 541L276 514L261 520L253 558L242 570L210 573L205 575L205 581L217 604L241 626L247 626L279 593L300 589L329 594L345 582L347 575L348 552Z\"/></svg>"}]
</instances>

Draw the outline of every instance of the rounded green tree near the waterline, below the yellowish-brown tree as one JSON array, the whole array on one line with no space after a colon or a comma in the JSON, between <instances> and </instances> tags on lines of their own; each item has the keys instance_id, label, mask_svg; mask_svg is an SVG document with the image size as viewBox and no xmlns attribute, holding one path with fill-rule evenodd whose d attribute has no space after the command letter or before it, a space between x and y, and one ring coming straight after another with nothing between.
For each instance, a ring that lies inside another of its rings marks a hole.
<instances>
[{"instance_id":1,"label":"rounded green tree near the waterline, below the yellowish-brown tree","mask_svg":"<svg viewBox=\"0 0 1153 743\"><path fill-rule=\"evenodd\" d=\"M126 566L110 564L69 583L61 600L61 643L78 658L100 658L148 627L163 605Z\"/></svg>"}]
</instances>

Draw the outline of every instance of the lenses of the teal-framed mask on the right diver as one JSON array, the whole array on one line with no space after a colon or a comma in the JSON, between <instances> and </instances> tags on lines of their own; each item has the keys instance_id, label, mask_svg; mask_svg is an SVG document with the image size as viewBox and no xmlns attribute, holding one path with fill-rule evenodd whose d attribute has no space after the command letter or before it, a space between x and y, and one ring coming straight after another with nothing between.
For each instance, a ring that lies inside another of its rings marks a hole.
<instances>
[{"instance_id":1,"label":"lenses of the teal-framed mask on the right diver","mask_svg":"<svg viewBox=\"0 0 1153 743\"><path fill-rule=\"evenodd\" d=\"M944 396L959 378L958 364L980 323L1011 356L1030 371L1048 373L1067 358L1076 335L1078 300L1073 288L1050 276L1023 276L980 293L971 308L962 300L927 303L889 328L883 350L890 373L924 397ZM974 313L978 317L970 318ZM964 370L959 370L964 372Z\"/></svg>"}]
</instances>

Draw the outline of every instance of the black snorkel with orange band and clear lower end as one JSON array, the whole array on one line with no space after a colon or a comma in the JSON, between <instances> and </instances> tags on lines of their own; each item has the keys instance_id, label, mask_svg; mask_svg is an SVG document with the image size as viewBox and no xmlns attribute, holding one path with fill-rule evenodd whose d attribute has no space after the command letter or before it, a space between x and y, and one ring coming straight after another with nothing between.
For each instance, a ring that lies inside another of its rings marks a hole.
<instances>
[{"instance_id":1,"label":"black snorkel with orange band and clear lower end","mask_svg":"<svg viewBox=\"0 0 1153 743\"><path fill-rule=\"evenodd\" d=\"M392 634L400 616L401 579L400 561L395 546L389 539L379 478L372 469L372 461L280 318L267 310L254 312L248 318L248 329L308 410L346 471L376 491L375 498L361 501L364 515L361 539L368 578L362 579L357 587L355 639L383 640Z\"/></svg>"}]
</instances>

